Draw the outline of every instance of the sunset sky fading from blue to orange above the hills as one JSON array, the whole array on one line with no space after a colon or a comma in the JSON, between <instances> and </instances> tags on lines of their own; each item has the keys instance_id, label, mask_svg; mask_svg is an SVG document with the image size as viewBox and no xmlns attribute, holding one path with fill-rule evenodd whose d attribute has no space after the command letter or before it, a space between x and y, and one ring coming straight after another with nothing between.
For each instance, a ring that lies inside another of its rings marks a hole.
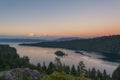
<instances>
[{"instance_id":1,"label":"sunset sky fading from blue to orange above the hills","mask_svg":"<svg viewBox=\"0 0 120 80\"><path fill-rule=\"evenodd\" d=\"M120 34L120 0L0 0L0 35Z\"/></svg>"}]
</instances>

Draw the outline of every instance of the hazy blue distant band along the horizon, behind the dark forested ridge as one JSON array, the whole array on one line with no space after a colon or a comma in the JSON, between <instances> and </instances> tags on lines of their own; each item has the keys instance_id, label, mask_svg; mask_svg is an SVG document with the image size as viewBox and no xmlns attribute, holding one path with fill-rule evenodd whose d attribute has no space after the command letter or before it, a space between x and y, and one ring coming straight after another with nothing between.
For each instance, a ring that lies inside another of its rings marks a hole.
<instances>
[{"instance_id":1,"label":"hazy blue distant band along the horizon, behind the dark forested ridge","mask_svg":"<svg viewBox=\"0 0 120 80\"><path fill-rule=\"evenodd\" d=\"M0 42L48 42L48 41L70 41L78 37L30 37L30 36L0 36Z\"/></svg>"}]
</instances>

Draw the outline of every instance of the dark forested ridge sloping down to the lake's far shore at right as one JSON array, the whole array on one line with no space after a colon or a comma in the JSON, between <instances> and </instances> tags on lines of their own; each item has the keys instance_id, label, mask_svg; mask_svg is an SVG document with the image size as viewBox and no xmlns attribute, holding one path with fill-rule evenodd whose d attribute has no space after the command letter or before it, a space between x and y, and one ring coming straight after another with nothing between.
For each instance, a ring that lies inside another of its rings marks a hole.
<instances>
[{"instance_id":1,"label":"dark forested ridge sloping down to the lake's far shore at right","mask_svg":"<svg viewBox=\"0 0 120 80\"><path fill-rule=\"evenodd\" d=\"M120 62L120 35L103 36L90 39L76 39L71 41L53 41L21 45L99 52L107 57L104 60Z\"/></svg>"}]
</instances>

